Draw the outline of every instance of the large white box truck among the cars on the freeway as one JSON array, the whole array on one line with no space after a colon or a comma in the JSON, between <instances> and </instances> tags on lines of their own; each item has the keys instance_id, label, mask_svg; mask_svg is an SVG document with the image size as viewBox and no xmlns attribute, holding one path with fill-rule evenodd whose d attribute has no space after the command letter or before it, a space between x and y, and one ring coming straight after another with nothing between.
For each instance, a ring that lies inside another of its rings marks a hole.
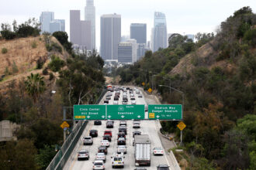
<instances>
[{"instance_id":1,"label":"large white box truck among the cars on the freeway","mask_svg":"<svg viewBox=\"0 0 256 170\"><path fill-rule=\"evenodd\" d=\"M150 166L151 142L147 134L134 136L135 165Z\"/></svg>"}]
</instances>

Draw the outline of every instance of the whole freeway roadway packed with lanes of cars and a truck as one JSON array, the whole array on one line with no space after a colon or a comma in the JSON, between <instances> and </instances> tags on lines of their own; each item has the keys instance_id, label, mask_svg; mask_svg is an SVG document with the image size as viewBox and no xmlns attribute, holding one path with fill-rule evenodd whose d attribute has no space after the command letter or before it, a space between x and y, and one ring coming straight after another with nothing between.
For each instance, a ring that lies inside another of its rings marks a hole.
<instances>
[{"instance_id":1,"label":"whole freeway roadway packed with lanes of cars and a truck","mask_svg":"<svg viewBox=\"0 0 256 170\"><path fill-rule=\"evenodd\" d=\"M147 104L132 87L108 87L100 104ZM90 121L64 169L169 169L155 121Z\"/></svg>"}]
</instances>

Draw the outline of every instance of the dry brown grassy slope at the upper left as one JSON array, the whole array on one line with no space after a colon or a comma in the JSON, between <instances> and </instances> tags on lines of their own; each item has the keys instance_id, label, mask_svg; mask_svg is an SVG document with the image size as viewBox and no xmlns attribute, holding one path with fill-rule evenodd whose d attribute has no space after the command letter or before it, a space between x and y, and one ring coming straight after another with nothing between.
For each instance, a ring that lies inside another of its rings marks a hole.
<instances>
[{"instance_id":1,"label":"dry brown grassy slope at the upper left","mask_svg":"<svg viewBox=\"0 0 256 170\"><path fill-rule=\"evenodd\" d=\"M59 56L61 59L67 59L68 53L64 50L61 43L55 39L54 36L50 36L50 43L57 44L61 47L61 53L57 50L47 51L46 37L36 36L28 38L19 38L12 40L0 40L0 50L5 48L7 53L0 53L0 93L3 93L12 80L22 80L26 78L30 73L43 72L43 68L50 62L50 56ZM36 62L42 60L43 67L36 69ZM8 70L8 73L6 73ZM45 75L43 75L45 76ZM49 79L49 75L45 80ZM47 87L50 86L47 82Z\"/></svg>"}]
</instances>

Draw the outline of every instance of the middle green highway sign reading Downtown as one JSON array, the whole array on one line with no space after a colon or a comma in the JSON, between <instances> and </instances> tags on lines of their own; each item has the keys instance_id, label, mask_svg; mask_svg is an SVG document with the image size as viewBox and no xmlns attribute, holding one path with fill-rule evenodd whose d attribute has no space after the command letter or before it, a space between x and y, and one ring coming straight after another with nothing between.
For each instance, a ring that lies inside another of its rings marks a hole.
<instances>
[{"instance_id":1,"label":"middle green highway sign reading Downtown","mask_svg":"<svg viewBox=\"0 0 256 170\"><path fill-rule=\"evenodd\" d=\"M145 107L142 104L107 105L106 118L116 119L145 119Z\"/></svg>"}]
</instances>

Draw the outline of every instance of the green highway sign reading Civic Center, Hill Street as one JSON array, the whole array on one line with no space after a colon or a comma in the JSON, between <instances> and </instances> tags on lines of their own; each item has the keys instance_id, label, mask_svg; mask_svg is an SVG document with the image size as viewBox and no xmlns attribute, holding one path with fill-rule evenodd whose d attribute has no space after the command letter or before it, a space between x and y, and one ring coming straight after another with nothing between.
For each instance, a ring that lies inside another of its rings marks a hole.
<instances>
[{"instance_id":1,"label":"green highway sign reading Civic Center, Hill Street","mask_svg":"<svg viewBox=\"0 0 256 170\"><path fill-rule=\"evenodd\" d=\"M74 120L105 120L105 105L74 105Z\"/></svg>"}]
</instances>

